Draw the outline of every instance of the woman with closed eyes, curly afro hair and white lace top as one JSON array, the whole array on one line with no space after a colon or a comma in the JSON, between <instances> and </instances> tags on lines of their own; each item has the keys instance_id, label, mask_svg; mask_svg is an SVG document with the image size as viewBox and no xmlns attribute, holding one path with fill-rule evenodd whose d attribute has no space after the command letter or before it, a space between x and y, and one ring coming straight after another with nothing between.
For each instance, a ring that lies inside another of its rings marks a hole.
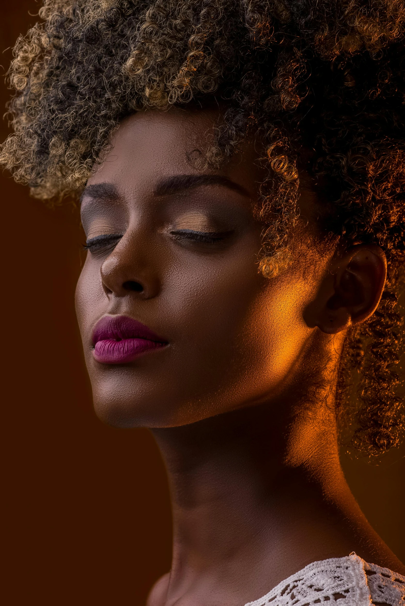
<instances>
[{"instance_id":1,"label":"woman with closed eyes, curly afro hair and white lace top","mask_svg":"<svg viewBox=\"0 0 405 606\"><path fill-rule=\"evenodd\" d=\"M403 604L338 443L380 454L403 422L404 5L39 15L1 160L36 197L81 196L95 410L150 428L172 492L149 606Z\"/></svg>"}]
</instances>

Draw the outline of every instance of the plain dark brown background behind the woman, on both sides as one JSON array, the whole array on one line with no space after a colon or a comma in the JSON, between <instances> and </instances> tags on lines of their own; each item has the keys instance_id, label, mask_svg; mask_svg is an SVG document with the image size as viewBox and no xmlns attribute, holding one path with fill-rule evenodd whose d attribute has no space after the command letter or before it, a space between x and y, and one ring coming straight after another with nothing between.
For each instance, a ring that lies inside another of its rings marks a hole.
<instances>
[{"instance_id":1,"label":"plain dark brown background behind the woman, on both sides","mask_svg":"<svg viewBox=\"0 0 405 606\"><path fill-rule=\"evenodd\" d=\"M38 12L35 0L2 0L1 73L17 36L36 21L28 11ZM1 107L7 96L2 85ZM4 122L0 139L6 134ZM0 179L3 603L142 606L170 567L162 462L147 431L105 427L92 411L73 308L77 216ZM404 453L379 466L343 461L367 518L401 559Z\"/></svg>"}]
</instances>

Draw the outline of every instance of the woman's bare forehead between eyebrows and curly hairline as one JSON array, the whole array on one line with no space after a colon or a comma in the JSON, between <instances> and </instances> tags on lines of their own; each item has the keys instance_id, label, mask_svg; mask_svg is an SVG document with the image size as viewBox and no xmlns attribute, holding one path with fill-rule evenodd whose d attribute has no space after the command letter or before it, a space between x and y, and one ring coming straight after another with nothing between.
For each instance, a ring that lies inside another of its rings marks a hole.
<instances>
[{"instance_id":1,"label":"woman's bare forehead between eyebrows and curly hairline","mask_svg":"<svg viewBox=\"0 0 405 606\"><path fill-rule=\"evenodd\" d=\"M244 145L218 169L202 168L201 158L213 142L220 119L219 110L137 112L121 122L112 136L112 148L88 184L111 182L138 190L165 176L204 172L227 176L253 194L263 176L253 144Z\"/></svg>"}]
</instances>

